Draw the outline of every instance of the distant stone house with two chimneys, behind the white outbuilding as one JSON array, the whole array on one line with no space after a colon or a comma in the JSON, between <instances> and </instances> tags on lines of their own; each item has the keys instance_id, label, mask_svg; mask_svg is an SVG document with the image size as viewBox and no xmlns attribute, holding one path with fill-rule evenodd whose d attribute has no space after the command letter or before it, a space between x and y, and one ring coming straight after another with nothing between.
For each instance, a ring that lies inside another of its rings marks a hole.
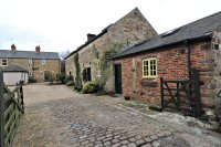
<instances>
[{"instance_id":1,"label":"distant stone house with two chimneys, behind the white outbuilding","mask_svg":"<svg viewBox=\"0 0 221 147\"><path fill-rule=\"evenodd\" d=\"M36 82L49 81L61 71L59 53L41 52L40 46L36 46L35 51L17 51L15 45L12 44L11 50L0 50L0 69L10 66L19 66L28 71L29 81Z\"/></svg>"}]
</instances>

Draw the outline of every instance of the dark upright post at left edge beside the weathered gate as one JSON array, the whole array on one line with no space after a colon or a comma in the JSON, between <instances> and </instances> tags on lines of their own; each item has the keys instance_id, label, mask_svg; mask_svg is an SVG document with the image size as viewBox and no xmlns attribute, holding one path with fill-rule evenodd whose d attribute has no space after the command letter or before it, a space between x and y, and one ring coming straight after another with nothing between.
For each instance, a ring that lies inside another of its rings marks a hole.
<instances>
[{"instance_id":1,"label":"dark upright post at left edge beside the weathered gate","mask_svg":"<svg viewBox=\"0 0 221 147\"><path fill-rule=\"evenodd\" d=\"M0 71L0 147L4 147L3 72Z\"/></svg>"}]
</instances>

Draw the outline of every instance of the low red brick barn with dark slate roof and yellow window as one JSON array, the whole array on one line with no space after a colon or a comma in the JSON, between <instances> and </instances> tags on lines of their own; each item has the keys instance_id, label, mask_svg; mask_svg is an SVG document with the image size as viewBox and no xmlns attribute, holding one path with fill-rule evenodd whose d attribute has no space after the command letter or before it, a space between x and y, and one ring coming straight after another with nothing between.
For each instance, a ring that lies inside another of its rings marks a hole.
<instances>
[{"instance_id":1,"label":"low red brick barn with dark slate roof and yellow window","mask_svg":"<svg viewBox=\"0 0 221 147\"><path fill-rule=\"evenodd\" d=\"M161 104L160 77L189 80L196 69L202 107L213 107L221 88L221 12L127 48L113 63L115 90L150 105Z\"/></svg>"}]
</instances>

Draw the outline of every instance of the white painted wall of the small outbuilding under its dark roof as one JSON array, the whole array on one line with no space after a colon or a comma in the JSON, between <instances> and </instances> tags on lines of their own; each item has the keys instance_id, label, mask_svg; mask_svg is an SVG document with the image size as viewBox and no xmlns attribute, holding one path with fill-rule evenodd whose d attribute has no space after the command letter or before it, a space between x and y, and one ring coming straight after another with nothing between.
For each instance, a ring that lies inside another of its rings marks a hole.
<instances>
[{"instance_id":1,"label":"white painted wall of the small outbuilding under its dark roof","mask_svg":"<svg viewBox=\"0 0 221 147\"><path fill-rule=\"evenodd\" d=\"M29 74L24 72L3 72L3 82L6 85L17 85L20 81L24 84L29 81Z\"/></svg>"}]
</instances>

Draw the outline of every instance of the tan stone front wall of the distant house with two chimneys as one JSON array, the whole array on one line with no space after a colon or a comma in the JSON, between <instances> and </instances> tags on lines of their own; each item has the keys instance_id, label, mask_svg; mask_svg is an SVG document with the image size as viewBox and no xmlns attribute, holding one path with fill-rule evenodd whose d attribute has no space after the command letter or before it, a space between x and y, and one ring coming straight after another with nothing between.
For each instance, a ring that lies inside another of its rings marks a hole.
<instances>
[{"instance_id":1,"label":"tan stone front wall of the distant house with two chimneys","mask_svg":"<svg viewBox=\"0 0 221 147\"><path fill-rule=\"evenodd\" d=\"M45 64L42 64L42 60L32 60L32 64L29 64L29 59L8 59L10 65L19 65L27 71L32 71L30 78L36 80L36 82L44 81L44 72L50 71L55 77L61 71L60 60L45 60ZM36 70L32 70L35 67ZM34 77L33 77L34 76Z\"/></svg>"}]
</instances>

